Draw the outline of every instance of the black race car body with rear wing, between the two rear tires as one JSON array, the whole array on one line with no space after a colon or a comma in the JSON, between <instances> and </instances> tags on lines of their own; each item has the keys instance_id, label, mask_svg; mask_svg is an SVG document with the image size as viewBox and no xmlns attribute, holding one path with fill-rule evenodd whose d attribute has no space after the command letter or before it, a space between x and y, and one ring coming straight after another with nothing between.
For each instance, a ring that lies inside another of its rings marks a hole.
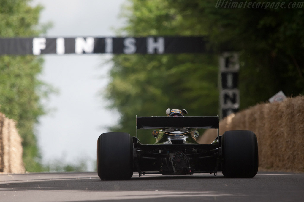
<instances>
[{"instance_id":1,"label":"black race car body with rear wing, between the two rear tires","mask_svg":"<svg viewBox=\"0 0 304 202\"><path fill-rule=\"evenodd\" d=\"M134 171L142 174L187 175L221 171L219 117L136 117L137 130L158 129L155 144L133 138ZM212 144L196 141L197 129L217 129Z\"/></svg>"}]
</instances>

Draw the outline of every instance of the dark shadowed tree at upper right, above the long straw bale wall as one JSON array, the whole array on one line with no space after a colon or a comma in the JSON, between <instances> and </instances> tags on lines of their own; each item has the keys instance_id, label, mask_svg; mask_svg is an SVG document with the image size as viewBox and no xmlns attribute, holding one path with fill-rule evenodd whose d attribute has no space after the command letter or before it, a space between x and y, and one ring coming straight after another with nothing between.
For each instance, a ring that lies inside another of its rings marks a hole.
<instances>
[{"instance_id":1,"label":"dark shadowed tree at upper right, above the long straw bale wall","mask_svg":"<svg viewBox=\"0 0 304 202\"><path fill-rule=\"evenodd\" d=\"M265 8L264 1L256 0L247 1L255 2L254 8L244 8L244 1L233 2L237 8L216 8L213 0L168 1L186 22L196 19L208 31L215 52L240 52L241 108L267 101L280 90L288 96L303 94L304 5L288 8L293 1L284 0Z\"/></svg>"}]
</instances>

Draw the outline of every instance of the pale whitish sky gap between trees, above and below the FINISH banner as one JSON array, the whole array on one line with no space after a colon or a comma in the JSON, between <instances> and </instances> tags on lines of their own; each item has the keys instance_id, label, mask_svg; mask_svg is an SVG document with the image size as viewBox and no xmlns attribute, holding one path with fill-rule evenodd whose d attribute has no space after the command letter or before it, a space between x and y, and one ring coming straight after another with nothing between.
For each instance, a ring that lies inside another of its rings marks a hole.
<instances>
[{"instance_id":1,"label":"pale whitish sky gap between trees, above and below the FINISH banner","mask_svg":"<svg viewBox=\"0 0 304 202\"><path fill-rule=\"evenodd\" d=\"M41 4L40 23L53 22L47 37L115 36L112 28L123 26L119 12L125 0L35 0ZM40 118L36 134L44 163L61 159L75 164L80 159L96 159L96 143L106 126L119 116L105 109L98 96L109 82L111 55L43 55L42 81L59 90L45 104L55 108ZM89 164L88 170L94 168Z\"/></svg>"}]
</instances>

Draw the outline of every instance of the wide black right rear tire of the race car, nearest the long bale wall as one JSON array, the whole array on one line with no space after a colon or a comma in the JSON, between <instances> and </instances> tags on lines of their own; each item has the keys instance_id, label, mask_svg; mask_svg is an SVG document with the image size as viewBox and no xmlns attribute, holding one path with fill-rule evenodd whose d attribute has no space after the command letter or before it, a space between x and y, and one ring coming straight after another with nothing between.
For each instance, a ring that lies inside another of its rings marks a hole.
<instances>
[{"instance_id":1,"label":"wide black right rear tire of the race car, nearest the long bale wall","mask_svg":"<svg viewBox=\"0 0 304 202\"><path fill-rule=\"evenodd\" d=\"M221 146L224 177L252 178L257 174L257 136L252 131L226 131Z\"/></svg>"}]
</instances>

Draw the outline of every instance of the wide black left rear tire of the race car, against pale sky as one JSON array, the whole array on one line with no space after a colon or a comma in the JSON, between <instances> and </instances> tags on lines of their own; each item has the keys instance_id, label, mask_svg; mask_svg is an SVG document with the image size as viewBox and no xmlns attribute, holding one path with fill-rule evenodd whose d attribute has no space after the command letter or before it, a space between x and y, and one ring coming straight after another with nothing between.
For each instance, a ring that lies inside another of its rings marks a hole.
<instances>
[{"instance_id":1,"label":"wide black left rear tire of the race car, against pale sky","mask_svg":"<svg viewBox=\"0 0 304 202\"><path fill-rule=\"evenodd\" d=\"M133 175L133 140L128 133L103 133L97 140L97 173L102 180Z\"/></svg>"}]
</instances>

